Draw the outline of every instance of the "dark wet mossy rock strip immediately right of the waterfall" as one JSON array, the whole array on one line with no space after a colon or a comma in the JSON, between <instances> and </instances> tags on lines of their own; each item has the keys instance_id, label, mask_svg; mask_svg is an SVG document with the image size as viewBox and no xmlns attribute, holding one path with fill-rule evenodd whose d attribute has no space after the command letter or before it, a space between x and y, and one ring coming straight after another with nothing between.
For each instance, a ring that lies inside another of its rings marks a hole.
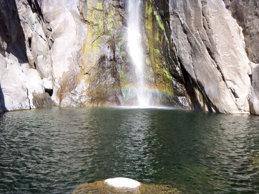
<instances>
[{"instance_id":1,"label":"dark wet mossy rock strip immediately right of the waterfall","mask_svg":"<svg viewBox=\"0 0 259 194\"><path fill-rule=\"evenodd\" d=\"M160 4L166 5L166 2ZM160 91L160 104L190 108L191 102L185 91L181 67L174 57L168 20L160 4L156 4L153 0L144 1L148 53L155 85Z\"/></svg>"}]
</instances>

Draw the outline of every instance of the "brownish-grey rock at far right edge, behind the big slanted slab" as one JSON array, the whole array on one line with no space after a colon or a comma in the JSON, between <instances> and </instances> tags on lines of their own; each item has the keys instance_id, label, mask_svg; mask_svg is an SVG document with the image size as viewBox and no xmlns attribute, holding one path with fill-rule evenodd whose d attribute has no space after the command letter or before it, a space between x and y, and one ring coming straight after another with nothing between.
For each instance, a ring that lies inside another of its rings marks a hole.
<instances>
[{"instance_id":1,"label":"brownish-grey rock at far right edge, behind the big slanted slab","mask_svg":"<svg viewBox=\"0 0 259 194\"><path fill-rule=\"evenodd\" d=\"M225 6L231 11L233 18L243 29L244 40L246 42L246 52L250 66L252 68L251 76L251 114L259 114L259 89L258 89L258 63L259 63L259 2L257 0L224 0ZM256 64L257 63L257 64Z\"/></svg>"}]
</instances>

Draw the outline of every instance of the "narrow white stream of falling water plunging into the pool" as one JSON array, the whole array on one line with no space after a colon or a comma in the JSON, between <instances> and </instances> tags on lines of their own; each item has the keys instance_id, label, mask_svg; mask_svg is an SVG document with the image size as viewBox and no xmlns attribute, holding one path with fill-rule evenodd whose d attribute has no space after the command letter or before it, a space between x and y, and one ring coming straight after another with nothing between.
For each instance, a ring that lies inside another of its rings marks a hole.
<instances>
[{"instance_id":1,"label":"narrow white stream of falling water plunging into the pool","mask_svg":"<svg viewBox=\"0 0 259 194\"><path fill-rule=\"evenodd\" d=\"M150 96L146 92L144 79L144 57L141 44L141 20L140 20L140 0L128 0L128 47L136 73L136 93L138 96L138 106L148 107Z\"/></svg>"}]
</instances>

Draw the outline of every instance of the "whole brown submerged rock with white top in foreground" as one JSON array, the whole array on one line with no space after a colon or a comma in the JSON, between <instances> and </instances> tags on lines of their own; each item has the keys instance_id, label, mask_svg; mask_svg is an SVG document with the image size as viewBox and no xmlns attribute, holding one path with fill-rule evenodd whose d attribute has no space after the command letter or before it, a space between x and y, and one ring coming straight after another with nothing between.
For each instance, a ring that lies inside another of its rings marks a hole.
<instances>
[{"instance_id":1,"label":"whole brown submerged rock with white top in foreground","mask_svg":"<svg viewBox=\"0 0 259 194\"><path fill-rule=\"evenodd\" d=\"M73 194L180 194L177 189L165 185L147 185L130 178L109 178L104 181L80 185Z\"/></svg>"}]
</instances>

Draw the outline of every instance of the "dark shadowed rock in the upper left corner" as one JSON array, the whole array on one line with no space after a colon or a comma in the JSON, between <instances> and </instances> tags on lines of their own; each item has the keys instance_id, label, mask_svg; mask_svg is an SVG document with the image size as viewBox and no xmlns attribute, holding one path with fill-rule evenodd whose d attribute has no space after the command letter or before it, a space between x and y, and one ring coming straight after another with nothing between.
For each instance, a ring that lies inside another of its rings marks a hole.
<instances>
[{"instance_id":1,"label":"dark shadowed rock in the upper left corner","mask_svg":"<svg viewBox=\"0 0 259 194\"><path fill-rule=\"evenodd\" d=\"M6 45L0 44L0 53L5 57L5 51L18 58L19 63L28 62L26 55L26 40L15 0L0 1L0 36Z\"/></svg>"}]
</instances>

